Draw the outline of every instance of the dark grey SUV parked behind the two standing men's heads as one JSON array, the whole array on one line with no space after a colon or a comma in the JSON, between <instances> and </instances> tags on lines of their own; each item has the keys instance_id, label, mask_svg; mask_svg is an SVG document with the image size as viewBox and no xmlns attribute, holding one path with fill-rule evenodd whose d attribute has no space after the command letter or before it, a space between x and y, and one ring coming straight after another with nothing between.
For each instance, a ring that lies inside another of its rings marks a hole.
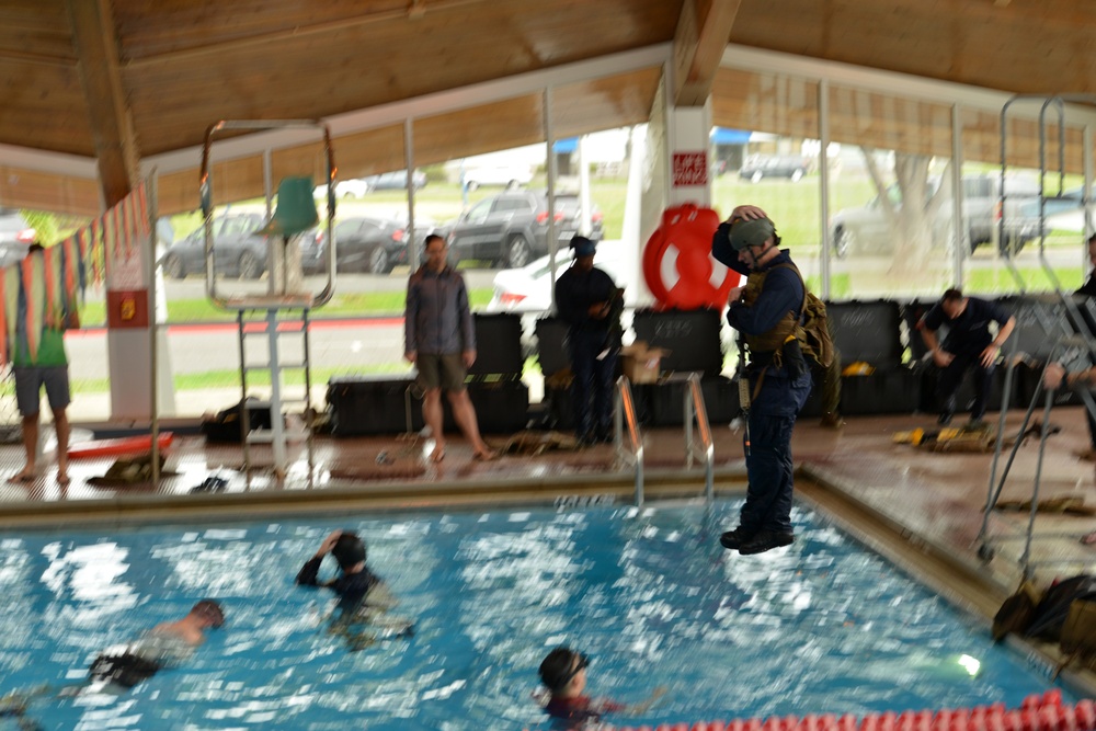
<instances>
[{"instance_id":1,"label":"dark grey SUV parked behind the two standing men's heads","mask_svg":"<svg viewBox=\"0 0 1096 731\"><path fill-rule=\"evenodd\" d=\"M567 249L580 231L579 196L556 196L556 237ZM602 215L591 216L594 241L603 237ZM476 259L518 269L548 253L548 195L545 191L511 191L469 207L449 230L450 258Z\"/></svg>"}]
</instances>

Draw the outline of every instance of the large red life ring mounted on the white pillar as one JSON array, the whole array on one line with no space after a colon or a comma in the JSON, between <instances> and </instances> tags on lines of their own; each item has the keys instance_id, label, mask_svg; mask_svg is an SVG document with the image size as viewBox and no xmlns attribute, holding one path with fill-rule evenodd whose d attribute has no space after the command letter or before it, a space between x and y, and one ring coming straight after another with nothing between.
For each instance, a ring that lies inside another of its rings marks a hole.
<instances>
[{"instance_id":1,"label":"large red life ring mounted on the white pillar","mask_svg":"<svg viewBox=\"0 0 1096 731\"><path fill-rule=\"evenodd\" d=\"M643 247L643 278L664 308L722 309L741 275L711 256L719 214L692 203L667 208Z\"/></svg>"}]
</instances>

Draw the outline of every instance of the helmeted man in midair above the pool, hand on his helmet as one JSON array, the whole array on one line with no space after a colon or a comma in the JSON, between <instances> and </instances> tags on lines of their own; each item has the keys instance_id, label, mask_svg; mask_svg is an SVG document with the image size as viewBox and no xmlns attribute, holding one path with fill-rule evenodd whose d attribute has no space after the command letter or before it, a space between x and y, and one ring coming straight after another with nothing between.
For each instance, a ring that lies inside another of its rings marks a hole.
<instances>
[{"instance_id":1,"label":"helmeted man in midair above the pool, hand on his helmet","mask_svg":"<svg viewBox=\"0 0 1096 731\"><path fill-rule=\"evenodd\" d=\"M746 503L739 526L719 542L742 555L761 553L795 540L791 529L791 431L811 390L811 375L797 338L804 286L799 270L765 212L739 206L721 224L712 255L746 274L731 289L727 321L750 350L750 418L746 434Z\"/></svg>"}]
</instances>

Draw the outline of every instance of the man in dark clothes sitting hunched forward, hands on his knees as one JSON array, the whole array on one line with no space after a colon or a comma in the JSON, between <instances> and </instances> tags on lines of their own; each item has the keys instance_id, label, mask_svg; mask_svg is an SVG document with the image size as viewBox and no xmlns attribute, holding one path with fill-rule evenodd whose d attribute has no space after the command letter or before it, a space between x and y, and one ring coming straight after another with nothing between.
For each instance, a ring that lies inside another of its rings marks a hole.
<instances>
[{"instance_id":1,"label":"man in dark clothes sitting hunched forward, hands on his knees","mask_svg":"<svg viewBox=\"0 0 1096 731\"><path fill-rule=\"evenodd\" d=\"M990 334L991 321L997 323L996 338ZM936 331L945 323L948 334L941 345L936 340ZM970 410L970 425L981 425L997 355L1015 327L1016 318L997 305L978 297L964 297L955 288L945 292L940 301L921 318L917 323L921 338L933 354L933 363L940 368L936 381L940 424L951 422L956 412L956 391L967 372L973 368L974 406Z\"/></svg>"}]
</instances>

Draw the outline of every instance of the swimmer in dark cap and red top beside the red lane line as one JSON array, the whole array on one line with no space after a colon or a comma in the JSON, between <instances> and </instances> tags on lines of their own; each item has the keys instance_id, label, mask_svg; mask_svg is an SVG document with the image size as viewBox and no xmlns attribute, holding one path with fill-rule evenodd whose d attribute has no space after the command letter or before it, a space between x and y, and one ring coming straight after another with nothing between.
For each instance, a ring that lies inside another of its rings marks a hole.
<instances>
[{"instance_id":1,"label":"swimmer in dark cap and red top beside the red lane line","mask_svg":"<svg viewBox=\"0 0 1096 731\"><path fill-rule=\"evenodd\" d=\"M548 716L562 724L558 728L589 729L601 721L603 713L642 713L666 692L660 686L650 698L630 706L608 698L591 698L584 694L589 665L590 658L567 647L556 648L540 663L540 682L548 690L540 698L541 705Z\"/></svg>"}]
</instances>

